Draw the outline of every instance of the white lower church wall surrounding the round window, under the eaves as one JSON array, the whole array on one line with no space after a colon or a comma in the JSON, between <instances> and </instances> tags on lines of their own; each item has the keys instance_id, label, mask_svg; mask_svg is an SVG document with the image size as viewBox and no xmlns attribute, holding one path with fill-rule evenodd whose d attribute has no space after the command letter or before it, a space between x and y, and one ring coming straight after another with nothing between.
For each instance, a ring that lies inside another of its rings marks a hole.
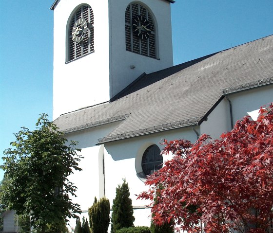
<instances>
[{"instance_id":1,"label":"white lower church wall surrounding the round window, under the eaves","mask_svg":"<svg viewBox=\"0 0 273 233\"><path fill-rule=\"evenodd\" d=\"M198 127L196 129L198 130ZM133 207L138 208L148 205L149 201L137 200L137 195L148 189L143 180L137 177L137 173L141 169L141 158L145 149L152 144L156 144L160 149L163 149L160 142L163 142L164 139L170 141L182 138L195 142L196 134L192 127L105 144L105 194L109 198L111 206L113 199L116 197L117 185L122 184L122 179L126 179L126 182L128 182ZM164 156L163 161L168 159L171 159L171 156ZM149 215L150 209L134 210L135 226L150 226Z\"/></svg>"}]
</instances>

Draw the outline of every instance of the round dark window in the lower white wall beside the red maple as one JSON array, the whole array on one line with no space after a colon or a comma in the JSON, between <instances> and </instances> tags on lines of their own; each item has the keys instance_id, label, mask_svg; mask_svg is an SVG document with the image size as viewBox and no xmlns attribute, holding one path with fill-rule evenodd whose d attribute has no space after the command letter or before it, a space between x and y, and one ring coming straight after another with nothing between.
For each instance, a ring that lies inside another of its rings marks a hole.
<instances>
[{"instance_id":1,"label":"round dark window in the lower white wall beside the red maple","mask_svg":"<svg viewBox=\"0 0 273 233\"><path fill-rule=\"evenodd\" d=\"M155 171L162 168L163 157L160 154L160 149L157 145L149 146L143 156L141 161L141 166L144 174L146 176L153 174Z\"/></svg>"}]
</instances>

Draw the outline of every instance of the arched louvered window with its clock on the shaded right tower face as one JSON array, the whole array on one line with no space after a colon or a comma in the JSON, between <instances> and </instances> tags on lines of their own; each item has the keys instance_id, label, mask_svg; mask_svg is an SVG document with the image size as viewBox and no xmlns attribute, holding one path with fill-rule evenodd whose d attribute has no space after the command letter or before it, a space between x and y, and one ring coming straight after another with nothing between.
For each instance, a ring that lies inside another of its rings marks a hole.
<instances>
[{"instance_id":1,"label":"arched louvered window with its clock on the shaded right tower face","mask_svg":"<svg viewBox=\"0 0 273 233\"><path fill-rule=\"evenodd\" d=\"M156 28L150 12L139 3L131 3L125 12L126 50L156 57Z\"/></svg>"}]
</instances>

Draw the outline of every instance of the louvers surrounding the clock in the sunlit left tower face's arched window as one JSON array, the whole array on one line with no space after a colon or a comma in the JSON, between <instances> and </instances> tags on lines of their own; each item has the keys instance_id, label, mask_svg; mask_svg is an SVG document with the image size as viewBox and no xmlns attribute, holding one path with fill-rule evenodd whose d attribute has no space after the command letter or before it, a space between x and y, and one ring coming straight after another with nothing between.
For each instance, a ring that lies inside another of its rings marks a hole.
<instances>
[{"instance_id":1,"label":"louvers surrounding the clock in the sunlit left tower face's arched window","mask_svg":"<svg viewBox=\"0 0 273 233\"><path fill-rule=\"evenodd\" d=\"M80 42L75 42L72 38L72 30L75 22L78 18L84 18L88 23L89 27L86 35ZM68 32L68 61L74 60L85 54L94 52L94 14L93 10L89 5L83 5L78 8L76 13L73 15L70 21L70 27Z\"/></svg>"}]
</instances>

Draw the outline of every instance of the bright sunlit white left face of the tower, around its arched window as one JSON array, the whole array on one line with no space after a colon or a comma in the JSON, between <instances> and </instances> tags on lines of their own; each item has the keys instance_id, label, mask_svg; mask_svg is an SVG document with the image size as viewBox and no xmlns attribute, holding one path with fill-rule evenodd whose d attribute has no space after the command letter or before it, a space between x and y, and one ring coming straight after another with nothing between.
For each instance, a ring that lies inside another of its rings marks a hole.
<instances>
[{"instance_id":1,"label":"bright sunlit white left face of the tower, around its arched window","mask_svg":"<svg viewBox=\"0 0 273 233\"><path fill-rule=\"evenodd\" d=\"M61 0L54 10L53 119L109 100L108 1L84 1L94 12L95 52L66 64L68 24L82 3Z\"/></svg>"}]
</instances>

